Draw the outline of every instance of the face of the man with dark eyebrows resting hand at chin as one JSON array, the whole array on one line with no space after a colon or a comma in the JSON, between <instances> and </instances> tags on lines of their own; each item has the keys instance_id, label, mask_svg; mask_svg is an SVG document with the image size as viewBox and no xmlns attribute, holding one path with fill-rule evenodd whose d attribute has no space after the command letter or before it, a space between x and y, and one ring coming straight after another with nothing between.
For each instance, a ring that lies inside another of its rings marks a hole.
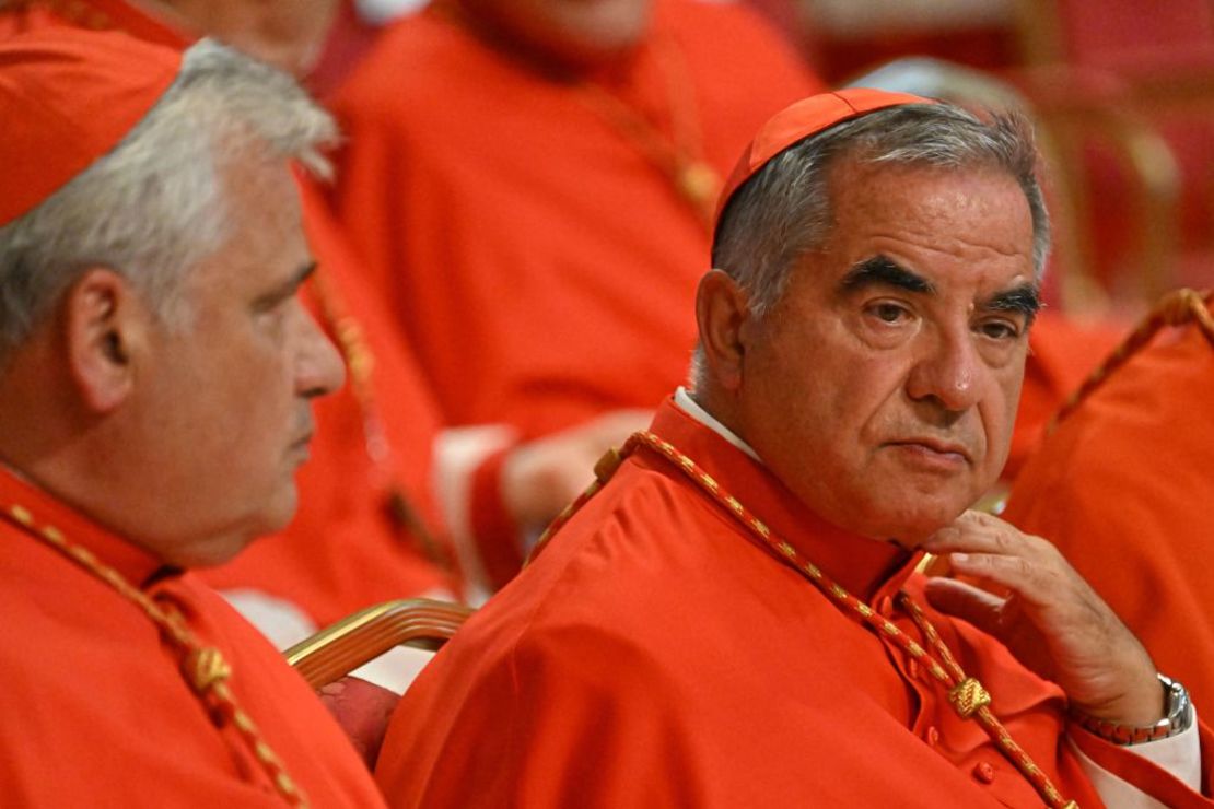
<instances>
[{"instance_id":1,"label":"face of the man with dark eyebrows resting hand at chin","mask_svg":"<svg viewBox=\"0 0 1214 809\"><path fill-rule=\"evenodd\" d=\"M1032 220L994 172L839 164L834 228L749 327L742 429L829 522L913 545L1006 458L1034 308Z\"/></svg>"}]
</instances>

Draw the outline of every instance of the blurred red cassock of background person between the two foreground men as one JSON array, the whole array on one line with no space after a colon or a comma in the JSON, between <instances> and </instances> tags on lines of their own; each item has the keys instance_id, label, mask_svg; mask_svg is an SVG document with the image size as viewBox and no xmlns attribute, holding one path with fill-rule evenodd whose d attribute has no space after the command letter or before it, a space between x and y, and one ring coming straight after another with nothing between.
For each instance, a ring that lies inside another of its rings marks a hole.
<instances>
[{"instance_id":1,"label":"blurred red cassock of background person between the two foreground men","mask_svg":"<svg viewBox=\"0 0 1214 809\"><path fill-rule=\"evenodd\" d=\"M686 377L709 266L662 144L724 176L819 89L738 4L658 0L643 45L594 85L439 10L387 29L333 103L336 204L448 421L527 438L657 405Z\"/></svg>"}]
</instances>

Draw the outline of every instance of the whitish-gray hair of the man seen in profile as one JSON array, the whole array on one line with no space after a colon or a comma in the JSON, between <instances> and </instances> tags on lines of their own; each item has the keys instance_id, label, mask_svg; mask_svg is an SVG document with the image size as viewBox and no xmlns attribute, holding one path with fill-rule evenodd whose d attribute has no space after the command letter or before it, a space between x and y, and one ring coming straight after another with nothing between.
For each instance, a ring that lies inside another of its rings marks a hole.
<instances>
[{"instance_id":1,"label":"whitish-gray hair of the man seen in profile","mask_svg":"<svg viewBox=\"0 0 1214 809\"><path fill-rule=\"evenodd\" d=\"M223 175L299 160L328 176L333 119L285 73L210 40L186 51L109 154L0 228L0 363L89 267L123 274L176 325L181 281L232 234Z\"/></svg>"}]
</instances>

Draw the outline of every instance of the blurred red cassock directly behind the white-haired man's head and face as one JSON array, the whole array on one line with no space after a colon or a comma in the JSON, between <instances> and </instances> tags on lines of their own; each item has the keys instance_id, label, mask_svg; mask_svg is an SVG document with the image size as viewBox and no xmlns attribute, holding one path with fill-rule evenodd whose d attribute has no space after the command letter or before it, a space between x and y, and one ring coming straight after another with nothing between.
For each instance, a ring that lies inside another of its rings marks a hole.
<instances>
[{"instance_id":1,"label":"blurred red cassock directly behind the white-haired man's head and face","mask_svg":"<svg viewBox=\"0 0 1214 809\"><path fill-rule=\"evenodd\" d=\"M0 11L0 36L58 25L124 30L175 49L191 44L124 0L41 0ZM369 364L368 392L357 389L351 352L344 352L346 386L314 406L317 428L311 461L299 475L295 520L202 576L220 588L285 599L325 625L368 604L454 583L435 564L447 556L431 485L437 408L316 186L308 180L300 186L319 264L305 300L339 347L345 341L337 320L356 331L354 351ZM415 522L402 519L402 501Z\"/></svg>"}]
</instances>

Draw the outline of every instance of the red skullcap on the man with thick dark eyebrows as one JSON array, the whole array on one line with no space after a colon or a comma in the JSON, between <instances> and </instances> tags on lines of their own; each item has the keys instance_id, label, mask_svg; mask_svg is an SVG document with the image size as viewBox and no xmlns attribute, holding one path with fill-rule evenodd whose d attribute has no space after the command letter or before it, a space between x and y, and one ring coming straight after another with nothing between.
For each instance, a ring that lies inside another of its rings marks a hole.
<instances>
[{"instance_id":1,"label":"red skullcap on the man with thick dark eyebrows","mask_svg":"<svg viewBox=\"0 0 1214 809\"><path fill-rule=\"evenodd\" d=\"M811 135L817 135L835 124L860 118L885 107L934 103L936 102L930 98L920 98L906 92L852 87L850 90L810 96L792 107L785 107L762 125L759 133L750 142L750 146L742 153L742 159L733 167L730 178L725 182L725 189L721 192L720 201L716 204L717 224L720 224L725 206L733 194L742 188L742 184L754 177L760 169L767 165L768 160L798 141L804 141Z\"/></svg>"}]
</instances>

